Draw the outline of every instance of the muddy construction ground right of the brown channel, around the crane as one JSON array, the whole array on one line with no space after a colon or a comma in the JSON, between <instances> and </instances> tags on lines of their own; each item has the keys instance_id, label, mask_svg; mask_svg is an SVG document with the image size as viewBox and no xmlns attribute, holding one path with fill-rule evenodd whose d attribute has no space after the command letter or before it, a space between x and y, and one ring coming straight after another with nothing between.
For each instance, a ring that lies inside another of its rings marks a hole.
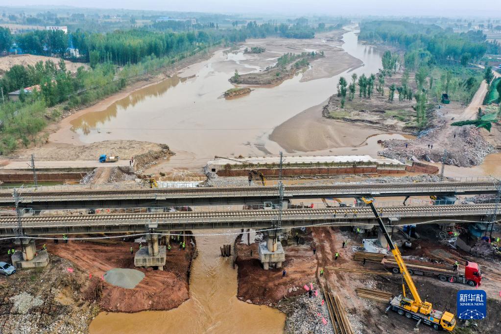
<instances>
[{"instance_id":1,"label":"muddy construction ground right of the brown channel, around the crane","mask_svg":"<svg viewBox=\"0 0 501 334\"><path fill-rule=\"evenodd\" d=\"M498 286L501 284L501 270L499 269L499 259L478 259L460 250L449 247L446 243L437 241L438 226L430 225L422 228L422 239L413 241L412 248L402 250L404 256L412 255L417 258L428 260L438 260L442 263L452 265L455 260L464 263L464 260L474 260L479 263L483 281L481 288L484 289L489 298L488 315L484 320L476 321L472 325L463 320L458 320L458 332L461 333L492 333L498 328L498 314L501 311L501 303L498 297ZM243 243L237 242L237 264L238 264L238 297L242 300L252 301L260 304L273 304L279 309L288 313L289 318L294 319L295 325L290 325L288 318L288 328L291 332L300 333L301 330L295 328L309 328L309 322L318 320L315 314L311 318L298 316L295 309L302 307L304 312L311 313L309 308L315 307L305 304L302 296L308 293L303 288L305 284L313 282L315 289L319 286L330 288L334 294L338 294L346 306L348 317L353 330L356 333L391 333L413 332L415 321L408 320L395 312L385 313L386 303L376 302L369 299L359 298L356 288L367 288L383 290L401 294L402 278L399 275L368 275L354 272L345 272L325 269L323 276L320 276L320 269L325 266L342 268L367 269L374 271L385 271L381 264L366 263L362 266L359 261L353 260L353 254L362 243L362 238L366 235L356 235L350 228L342 230L330 227L316 227L308 229L306 232L293 230L292 234L298 232L300 236L299 245L294 237L290 237L287 244L284 244L286 251L286 261L283 268L270 269L262 268L257 255L257 244L247 245L246 237ZM395 235L398 242L403 239ZM374 237L374 236L372 236ZM348 247L342 248L343 240L348 240ZM316 248L315 255L313 248ZM252 257L250 250L253 250ZM339 252L339 258L334 257L335 252ZM282 277L282 270L286 270L286 276ZM434 277L413 276L416 286L422 298L431 301L434 308L446 309L455 313L456 293L460 289L471 289L466 284L441 282ZM474 289L474 287L473 287ZM320 289L319 289L320 290ZM320 292L320 291L319 291ZM407 291L407 293L409 293ZM318 299L318 312L323 314ZM314 303L313 305L316 305ZM305 308L306 307L306 308ZM321 331L324 330L320 324ZM313 330L319 332L320 330ZM419 332L436 332L431 327L421 324Z\"/></svg>"}]
</instances>

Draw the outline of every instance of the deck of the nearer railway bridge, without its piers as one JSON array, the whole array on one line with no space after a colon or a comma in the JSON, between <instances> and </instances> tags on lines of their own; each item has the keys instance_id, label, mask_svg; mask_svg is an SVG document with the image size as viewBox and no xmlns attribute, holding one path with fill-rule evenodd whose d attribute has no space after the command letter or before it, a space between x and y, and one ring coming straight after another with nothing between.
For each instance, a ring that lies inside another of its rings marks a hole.
<instances>
[{"instance_id":1,"label":"deck of the nearer railway bridge, without its piers","mask_svg":"<svg viewBox=\"0 0 501 334\"><path fill-rule=\"evenodd\" d=\"M463 219L489 215L494 204L428 205L380 207L383 218L393 217L399 223L409 219L426 221L436 219ZM431 218L431 219L430 219ZM351 225L357 221L374 223L374 215L368 207L284 209L283 227L298 226L300 223L332 223ZM266 228L278 220L278 210L241 210L213 212L155 212L155 213L105 213L53 216L23 216L21 222L27 234L54 234L96 232L137 232L147 230L150 223L158 224L159 230L184 230L199 228ZM371 222L372 221L372 222ZM0 217L0 235L14 235L16 216Z\"/></svg>"}]
</instances>

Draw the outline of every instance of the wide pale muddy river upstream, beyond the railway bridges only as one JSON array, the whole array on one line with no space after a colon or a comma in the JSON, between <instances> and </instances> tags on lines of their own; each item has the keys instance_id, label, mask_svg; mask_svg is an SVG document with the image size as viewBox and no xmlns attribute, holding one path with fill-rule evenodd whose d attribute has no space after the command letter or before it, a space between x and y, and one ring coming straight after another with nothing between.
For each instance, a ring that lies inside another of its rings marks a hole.
<instances>
[{"instance_id":1,"label":"wide pale muddy river upstream, beyond the railway bridges only","mask_svg":"<svg viewBox=\"0 0 501 334\"><path fill-rule=\"evenodd\" d=\"M275 127L326 101L341 75L348 78L352 72L370 74L381 68L380 53L359 44L356 31L344 34L343 41L342 48L362 60L362 67L340 64L345 70L340 75L310 81L301 81L303 74L298 74L276 87L253 88L247 96L226 100L221 95L234 87L228 78L235 67L244 73L259 66L250 60L245 63L242 51L218 51L209 60L137 90L102 111L73 119L71 130L84 143L115 139L159 142L199 159L277 154L282 147L269 139Z\"/></svg>"}]
</instances>

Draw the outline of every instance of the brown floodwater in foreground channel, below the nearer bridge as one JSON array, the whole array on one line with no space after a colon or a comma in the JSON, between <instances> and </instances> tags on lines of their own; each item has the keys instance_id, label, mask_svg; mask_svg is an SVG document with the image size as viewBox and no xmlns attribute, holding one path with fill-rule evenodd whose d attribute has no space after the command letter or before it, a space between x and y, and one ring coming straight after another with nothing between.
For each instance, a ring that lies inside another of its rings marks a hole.
<instances>
[{"instance_id":1,"label":"brown floodwater in foreground channel, below the nearer bridge","mask_svg":"<svg viewBox=\"0 0 501 334\"><path fill-rule=\"evenodd\" d=\"M200 233L213 233L213 230ZM236 269L219 246L232 244L232 236L197 237L189 299L168 311L138 313L101 312L89 331L98 333L283 333L285 313L249 304L236 297Z\"/></svg>"}]
</instances>

